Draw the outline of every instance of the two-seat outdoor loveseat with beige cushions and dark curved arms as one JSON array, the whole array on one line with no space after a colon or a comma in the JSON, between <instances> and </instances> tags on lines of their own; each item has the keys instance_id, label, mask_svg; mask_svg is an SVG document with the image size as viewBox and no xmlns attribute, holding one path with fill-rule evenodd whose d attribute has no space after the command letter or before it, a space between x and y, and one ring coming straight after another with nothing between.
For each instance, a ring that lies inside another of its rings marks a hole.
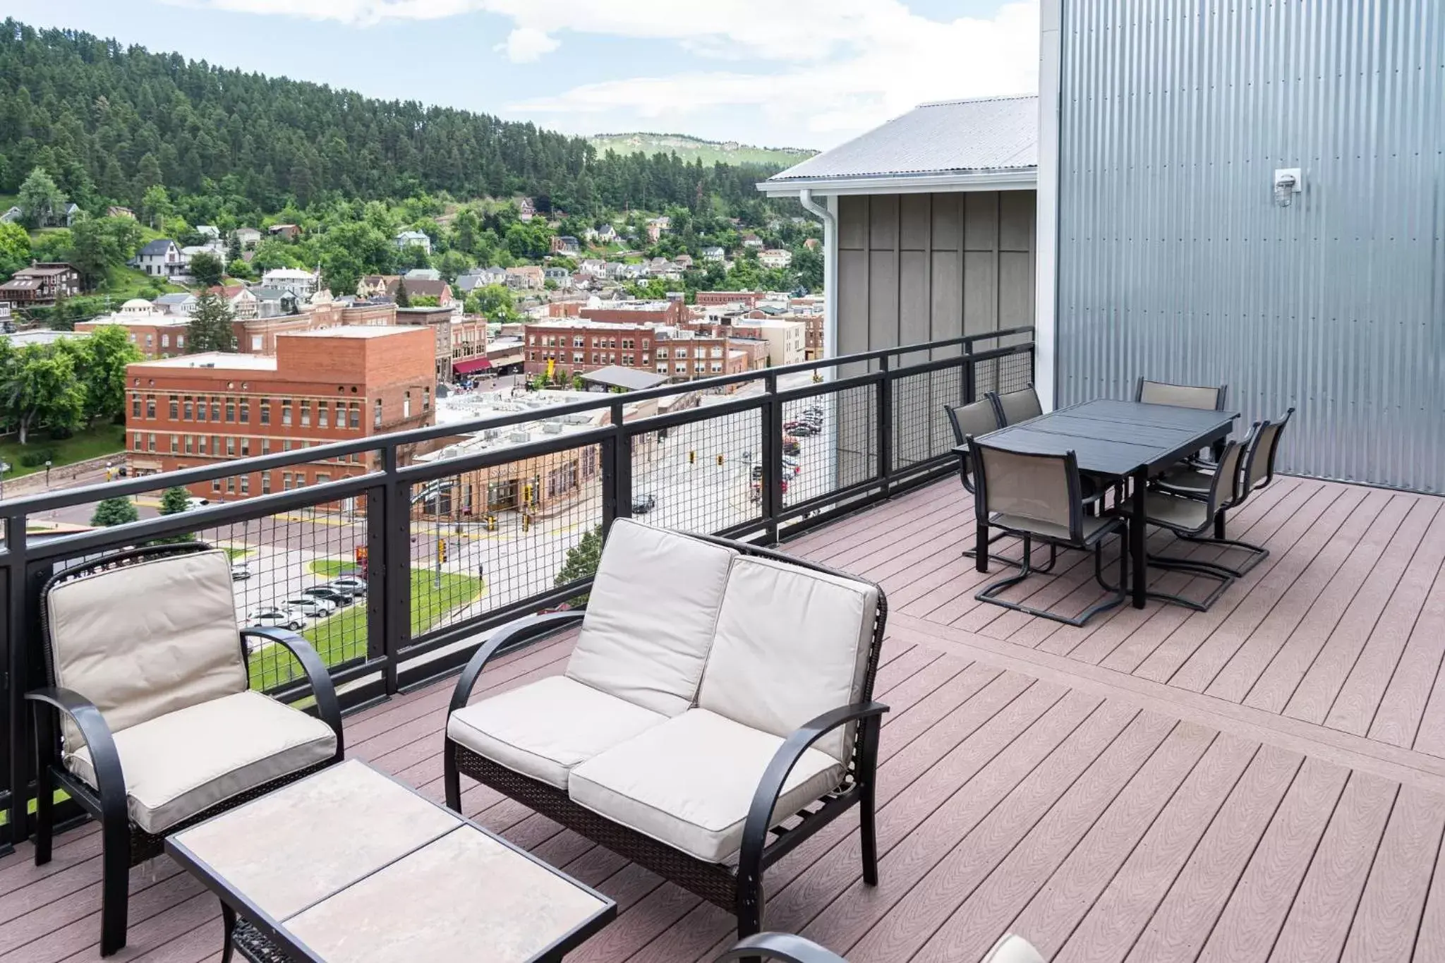
<instances>
[{"instance_id":1,"label":"two-seat outdoor loveseat with beige cushions and dark curved arms","mask_svg":"<svg viewBox=\"0 0 1445 963\"><path fill-rule=\"evenodd\" d=\"M847 809L877 884L874 772L887 614L861 579L617 520L585 611L514 622L452 694L465 772L762 930L763 871ZM496 653L581 622L562 676L467 705Z\"/></svg>"}]
</instances>

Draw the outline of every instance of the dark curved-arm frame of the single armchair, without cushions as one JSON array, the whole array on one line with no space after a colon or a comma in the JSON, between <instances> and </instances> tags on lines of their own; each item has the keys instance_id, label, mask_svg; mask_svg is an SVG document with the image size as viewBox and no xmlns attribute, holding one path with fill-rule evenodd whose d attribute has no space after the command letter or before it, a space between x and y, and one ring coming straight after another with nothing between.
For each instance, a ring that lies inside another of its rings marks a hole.
<instances>
[{"instance_id":1,"label":"dark curved-arm frame of the single armchair, without cushions","mask_svg":"<svg viewBox=\"0 0 1445 963\"><path fill-rule=\"evenodd\" d=\"M110 956L126 946L127 899L130 895L130 868L165 852L165 837L188 826L201 823L217 813L266 796L267 793L299 778L311 775L344 755L341 735L341 706L337 702L331 674L321 655L301 635L277 628L241 628L237 644L241 647L241 663L246 664L246 640L263 638L286 647L306 671L316 715L337 735L337 752L331 759L305 767L280 778L272 780L244 793L238 793L215 806L191 816L165 830L163 835L146 832L137 826L126 807L126 778L120 767L120 755L111 738L105 719L82 694L61 689L55 679L53 642L45 603L49 592L65 582L78 578L123 569L142 562L173 557L195 552L208 552L210 544L185 541L176 544L146 546L117 552L94 562L65 569L51 576L40 589L40 640L43 645L45 686L33 689L25 697L35 706L35 751L36 751L36 796L35 796L35 865L51 862L51 843L55 833L53 796L61 788L75 800L92 819L101 824L101 956ZM95 770L92 788L65 768L61 757L61 715L69 716L85 738Z\"/></svg>"}]
</instances>

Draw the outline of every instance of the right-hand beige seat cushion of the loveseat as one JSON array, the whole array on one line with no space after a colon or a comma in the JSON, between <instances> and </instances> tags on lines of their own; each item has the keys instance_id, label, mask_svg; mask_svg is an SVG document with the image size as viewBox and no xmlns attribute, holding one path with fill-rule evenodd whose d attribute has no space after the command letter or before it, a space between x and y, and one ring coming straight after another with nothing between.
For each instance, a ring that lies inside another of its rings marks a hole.
<instances>
[{"instance_id":1,"label":"right-hand beige seat cushion of the loveseat","mask_svg":"<svg viewBox=\"0 0 1445 963\"><path fill-rule=\"evenodd\" d=\"M743 845L753 793L783 744L705 709L692 709L572 770L578 806L708 862ZM773 810L775 824L842 780L842 765L808 749Z\"/></svg>"}]
</instances>

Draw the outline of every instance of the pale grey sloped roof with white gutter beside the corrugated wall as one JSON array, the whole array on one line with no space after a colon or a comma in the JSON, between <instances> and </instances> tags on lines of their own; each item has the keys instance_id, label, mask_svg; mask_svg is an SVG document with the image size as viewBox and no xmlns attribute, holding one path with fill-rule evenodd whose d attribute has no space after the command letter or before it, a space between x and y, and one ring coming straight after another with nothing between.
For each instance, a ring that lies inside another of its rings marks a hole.
<instances>
[{"instance_id":1,"label":"pale grey sloped roof with white gutter beside the corrugated wall","mask_svg":"<svg viewBox=\"0 0 1445 963\"><path fill-rule=\"evenodd\" d=\"M985 97L922 104L881 127L782 170L759 191L881 193L896 189L1032 188L1039 165L1039 98Z\"/></svg>"}]
</instances>

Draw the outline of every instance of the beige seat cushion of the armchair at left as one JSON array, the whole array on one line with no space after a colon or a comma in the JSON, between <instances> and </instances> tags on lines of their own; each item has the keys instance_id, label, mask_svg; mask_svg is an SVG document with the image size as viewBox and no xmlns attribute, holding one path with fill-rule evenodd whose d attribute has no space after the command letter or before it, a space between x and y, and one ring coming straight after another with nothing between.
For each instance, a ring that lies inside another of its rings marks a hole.
<instances>
[{"instance_id":1,"label":"beige seat cushion of the armchair at left","mask_svg":"<svg viewBox=\"0 0 1445 963\"><path fill-rule=\"evenodd\" d=\"M259 692L238 692L114 733L130 819L147 833L337 754L331 726ZM95 784L90 749L66 767Z\"/></svg>"}]
</instances>

